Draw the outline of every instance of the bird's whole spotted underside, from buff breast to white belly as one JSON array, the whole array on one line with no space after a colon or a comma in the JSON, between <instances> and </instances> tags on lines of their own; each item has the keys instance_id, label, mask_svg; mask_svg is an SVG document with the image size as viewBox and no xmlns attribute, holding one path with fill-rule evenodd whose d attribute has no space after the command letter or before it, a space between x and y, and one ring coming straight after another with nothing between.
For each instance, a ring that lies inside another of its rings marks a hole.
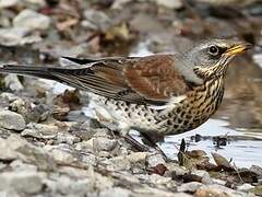
<instances>
[{"instance_id":1,"label":"bird's whole spotted underside, from buff breast to white belly","mask_svg":"<svg viewBox=\"0 0 262 197\"><path fill-rule=\"evenodd\" d=\"M99 97L96 104L103 107L96 113L100 121L109 120L119 129L138 129L142 132L175 135L194 129L205 123L218 108L224 93L221 81L212 81L189 92L187 96L157 109L148 105L131 104L124 101Z\"/></svg>"}]
</instances>

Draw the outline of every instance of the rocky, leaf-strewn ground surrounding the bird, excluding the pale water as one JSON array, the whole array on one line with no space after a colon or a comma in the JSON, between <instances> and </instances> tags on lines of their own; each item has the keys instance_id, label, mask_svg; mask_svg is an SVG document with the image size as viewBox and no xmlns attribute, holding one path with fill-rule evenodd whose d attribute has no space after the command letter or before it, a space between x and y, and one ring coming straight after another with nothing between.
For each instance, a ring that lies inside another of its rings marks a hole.
<instances>
[{"instance_id":1,"label":"rocky, leaf-strewn ground surrounding the bird, excluding the pale water","mask_svg":"<svg viewBox=\"0 0 262 197\"><path fill-rule=\"evenodd\" d=\"M229 76L261 80L261 2L202 1L0 0L0 61L57 66L60 56L127 56L144 46L182 51L203 37L237 36L255 45L258 66ZM255 107L242 119L261 128L261 82L236 80L243 90L229 89L239 95L248 89L246 105ZM262 195L261 166L241 169L217 153L211 162L204 150L184 144L175 161L138 152L84 116L83 92L57 94L43 81L13 74L1 76L0 86L0 197ZM236 107L230 111L236 118Z\"/></svg>"}]
</instances>

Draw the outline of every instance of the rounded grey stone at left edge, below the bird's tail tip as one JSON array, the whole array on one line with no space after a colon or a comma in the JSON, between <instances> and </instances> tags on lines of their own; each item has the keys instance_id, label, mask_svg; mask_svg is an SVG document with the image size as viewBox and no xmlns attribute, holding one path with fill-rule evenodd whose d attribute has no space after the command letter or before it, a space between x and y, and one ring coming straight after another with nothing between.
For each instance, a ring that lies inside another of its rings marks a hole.
<instances>
[{"instance_id":1,"label":"rounded grey stone at left edge, below the bird's tail tip","mask_svg":"<svg viewBox=\"0 0 262 197\"><path fill-rule=\"evenodd\" d=\"M0 109L0 127L10 130L23 130L25 128L25 120L20 114Z\"/></svg>"}]
</instances>

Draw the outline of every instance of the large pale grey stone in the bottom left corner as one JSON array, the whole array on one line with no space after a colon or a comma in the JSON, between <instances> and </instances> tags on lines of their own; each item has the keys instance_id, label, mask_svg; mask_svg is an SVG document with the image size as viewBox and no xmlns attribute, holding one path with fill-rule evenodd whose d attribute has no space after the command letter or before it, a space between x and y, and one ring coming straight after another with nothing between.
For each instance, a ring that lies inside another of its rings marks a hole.
<instances>
[{"instance_id":1,"label":"large pale grey stone in the bottom left corner","mask_svg":"<svg viewBox=\"0 0 262 197\"><path fill-rule=\"evenodd\" d=\"M33 195L43 188L41 177L35 172L3 172L0 179L0 190L10 188Z\"/></svg>"}]
</instances>

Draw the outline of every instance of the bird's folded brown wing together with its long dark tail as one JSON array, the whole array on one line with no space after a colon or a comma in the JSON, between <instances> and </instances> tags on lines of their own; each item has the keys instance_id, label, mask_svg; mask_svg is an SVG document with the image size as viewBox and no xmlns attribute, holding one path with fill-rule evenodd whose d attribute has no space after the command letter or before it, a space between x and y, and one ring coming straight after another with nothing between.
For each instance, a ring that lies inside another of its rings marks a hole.
<instances>
[{"instance_id":1,"label":"bird's folded brown wing together with its long dark tail","mask_svg":"<svg viewBox=\"0 0 262 197\"><path fill-rule=\"evenodd\" d=\"M83 67L68 69L9 65L0 71L51 79L98 95L140 104L163 104L189 90L189 83L175 69L178 65L175 67L171 55L68 59Z\"/></svg>"}]
</instances>

